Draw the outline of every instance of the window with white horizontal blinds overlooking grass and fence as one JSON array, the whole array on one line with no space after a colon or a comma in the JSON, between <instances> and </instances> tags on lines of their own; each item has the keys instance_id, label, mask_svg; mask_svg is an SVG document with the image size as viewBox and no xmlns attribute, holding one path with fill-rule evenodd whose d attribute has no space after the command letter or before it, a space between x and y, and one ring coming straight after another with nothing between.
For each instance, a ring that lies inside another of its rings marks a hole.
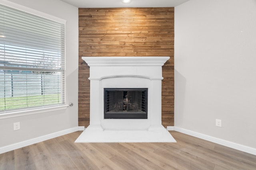
<instances>
[{"instance_id":1,"label":"window with white horizontal blinds overlooking grass and fence","mask_svg":"<svg viewBox=\"0 0 256 170\"><path fill-rule=\"evenodd\" d=\"M0 4L0 113L65 104L65 24Z\"/></svg>"}]
</instances>

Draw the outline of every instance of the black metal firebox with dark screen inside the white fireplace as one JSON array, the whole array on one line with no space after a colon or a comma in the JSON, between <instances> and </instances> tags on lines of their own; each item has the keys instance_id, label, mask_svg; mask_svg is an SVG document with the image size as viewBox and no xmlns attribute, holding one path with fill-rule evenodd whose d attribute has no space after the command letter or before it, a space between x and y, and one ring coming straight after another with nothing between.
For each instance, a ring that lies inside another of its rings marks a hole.
<instances>
[{"instance_id":1,"label":"black metal firebox with dark screen inside the white fireplace","mask_svg":"<svg viewBox=\"0 0 256 170\"><path fill-rule=\"evenodd\" d=\"M147 88L104 88L104 119L147 119Z\"/></svg>"}]
</instances>

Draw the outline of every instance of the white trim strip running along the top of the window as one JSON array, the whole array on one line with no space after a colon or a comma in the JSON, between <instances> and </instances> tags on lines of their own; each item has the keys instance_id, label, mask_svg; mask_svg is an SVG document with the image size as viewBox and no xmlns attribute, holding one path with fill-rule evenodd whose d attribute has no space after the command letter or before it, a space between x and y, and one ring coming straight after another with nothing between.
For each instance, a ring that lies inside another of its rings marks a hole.
<instances>
[{"instance_id":1,"label":"white trim strip running along the top of the window","mask_svg":"<svg viewBox=\"0 0 256 170\"><path fill-rule=\"evenodd\" d=\"M52 15L49 15L49 14L46 14L44 12L40 12L38 10L34 10L32 8L28 8L26 6L23 6L23 5L20 5L20 4L16 4L14 2L10 2L8 0L0 0L0 4L4 5L4 6L8 6L10 8L14 8L14 9L17 9L17 10L21 10L21 11L24 11L24 12L28 12L30 14L34 14L36 16L40 16L40 17L43 17L43 18L47 18L49 20L53 20L53 21L56 21L56 22L59 22L59 23L63 23L63 24L66 24L66 20L63 20L61 18L58 18L58 17L55 17L55 16L52 16Z\"/></svg>"}]
</instances>

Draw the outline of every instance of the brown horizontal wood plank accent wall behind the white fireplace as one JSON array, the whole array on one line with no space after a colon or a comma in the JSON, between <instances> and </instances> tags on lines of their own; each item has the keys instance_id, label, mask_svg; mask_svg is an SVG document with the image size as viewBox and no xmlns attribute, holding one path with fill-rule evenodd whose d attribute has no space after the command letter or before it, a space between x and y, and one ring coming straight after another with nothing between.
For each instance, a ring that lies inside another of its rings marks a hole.
<instances>
[{"instance_id":1,"label":"brown horizontal wood plank accent wall behind the white fireplace","mask_svg":"<svg viewBox=\"0 0 256 170\"><path fill-rule=\"evenodd\" d=\"M170 56L162 67L162 124L174 126L174 8L79 8L78 15L78 125L87 127L90 119L82 56Z\"/></svg>"}]
</instances>

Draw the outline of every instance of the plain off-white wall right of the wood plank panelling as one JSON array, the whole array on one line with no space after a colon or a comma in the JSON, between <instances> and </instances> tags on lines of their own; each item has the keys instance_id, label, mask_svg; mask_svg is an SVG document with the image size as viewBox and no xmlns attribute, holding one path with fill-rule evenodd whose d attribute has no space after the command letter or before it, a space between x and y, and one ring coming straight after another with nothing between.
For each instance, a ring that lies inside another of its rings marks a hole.
<instances>
[{"instance_id":1,"label":"plain off-white wall right of the wood plank panelling","mask_svg":"<svg viewBox=\"0 0 256 170\"><path fill-rule=\"evenodd\" d=\"M174 61L175 127L256 148L256 0L175 7Z\"/></svg>"}]
</instances>

